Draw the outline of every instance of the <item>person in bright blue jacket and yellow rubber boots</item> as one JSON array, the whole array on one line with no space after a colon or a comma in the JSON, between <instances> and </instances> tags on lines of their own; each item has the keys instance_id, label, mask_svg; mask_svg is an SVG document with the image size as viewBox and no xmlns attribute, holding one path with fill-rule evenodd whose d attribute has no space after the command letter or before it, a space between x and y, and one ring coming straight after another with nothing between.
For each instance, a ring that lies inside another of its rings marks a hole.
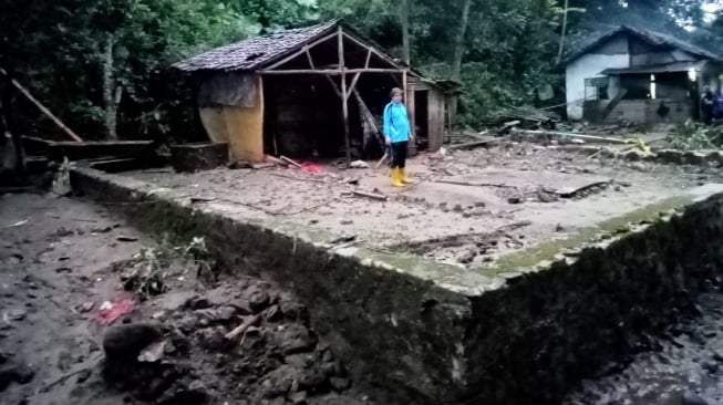
<instances>
[{"instance_id":1,"label":"person in bright blue jacket and yellow rubber boots","mask_svg":"<svg viewBox=\"0 0 723 405\"><path fill-rule=\"evenodd\" d=\"M384 107L384 138L391 148L392 185L404 187L411 183L406 177L406 149L413 141L406 106L402 103L404 92L394 87L391 92L392 102Z\"/></svg>"}]
</instances>

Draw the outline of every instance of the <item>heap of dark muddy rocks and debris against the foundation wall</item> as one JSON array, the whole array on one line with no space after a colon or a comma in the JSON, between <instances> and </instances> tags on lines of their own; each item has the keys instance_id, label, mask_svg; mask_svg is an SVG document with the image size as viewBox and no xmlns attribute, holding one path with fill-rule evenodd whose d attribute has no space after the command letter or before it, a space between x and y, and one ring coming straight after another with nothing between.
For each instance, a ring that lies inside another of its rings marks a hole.
<instances>
[{"instance_id":1,"label":"heap of dark muddy rocks and debris against the foundation wall","mask_svg":"<svg viewBox=\"0 0 723 405\"><path fill-rule=\"evenodd\" d=\"M307 404L351 388L304 307L250 279L229 291L109 329L105 380L157 404Z\"/></svg>"}]
</instances>

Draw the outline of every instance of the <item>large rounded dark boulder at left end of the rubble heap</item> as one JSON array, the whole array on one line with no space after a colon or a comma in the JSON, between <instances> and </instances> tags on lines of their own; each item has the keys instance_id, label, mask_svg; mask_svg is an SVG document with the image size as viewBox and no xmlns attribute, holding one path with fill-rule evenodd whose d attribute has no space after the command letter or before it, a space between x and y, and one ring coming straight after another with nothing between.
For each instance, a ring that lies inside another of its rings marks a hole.
<instances>
[{"instance_id":1,"label":"large rounded dark boulder at left end of the rubble heap","mask_svg":"<svg viewBox=\"0 0 723 405\"><path fill-rule=\"evenodd\" d=\"M113 326L103 336L107 357L136 359L141 351L162 338L157 325L132 323Z\"/></svg>"}]
</instances>

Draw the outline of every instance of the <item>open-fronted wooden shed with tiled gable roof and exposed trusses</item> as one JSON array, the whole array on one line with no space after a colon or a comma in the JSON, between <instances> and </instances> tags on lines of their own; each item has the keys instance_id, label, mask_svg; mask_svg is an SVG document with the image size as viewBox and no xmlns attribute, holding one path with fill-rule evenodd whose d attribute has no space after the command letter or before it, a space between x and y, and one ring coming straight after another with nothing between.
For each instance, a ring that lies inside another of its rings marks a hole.
<instances>
[{"instance_id":1,"label":"open-fronted wooden shed with tiled gable roof and exposed trusses","mask_svg":"<svg viewBox=\"0 0 723 405\"><path fill-rule=\"evenodd\" d=\"M348 159L383 153L381 115L405 91L414 147L442 146L445 90L341 21L251 38L174 64L197 86L200 121L234 158Z\"/></svg>"}]
</instances>

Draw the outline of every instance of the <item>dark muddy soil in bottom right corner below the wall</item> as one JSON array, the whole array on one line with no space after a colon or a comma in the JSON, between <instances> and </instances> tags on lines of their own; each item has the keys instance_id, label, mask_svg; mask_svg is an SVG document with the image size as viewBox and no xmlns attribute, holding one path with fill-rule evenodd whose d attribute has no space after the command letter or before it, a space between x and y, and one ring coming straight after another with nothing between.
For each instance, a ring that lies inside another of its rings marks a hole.
<instances>
[{"instance_id":1,"label":"dark muddy soil in bottom right corner below the wall","mask_svg":"<svg viewBox=\"0 0 723 405\"><path fill-rule=\"evenodd\" d=\"M565 404L723 404L723 294L702 294L701 316L671 325L653 351L585 381Z\"/></svg>"}]
</instances>

